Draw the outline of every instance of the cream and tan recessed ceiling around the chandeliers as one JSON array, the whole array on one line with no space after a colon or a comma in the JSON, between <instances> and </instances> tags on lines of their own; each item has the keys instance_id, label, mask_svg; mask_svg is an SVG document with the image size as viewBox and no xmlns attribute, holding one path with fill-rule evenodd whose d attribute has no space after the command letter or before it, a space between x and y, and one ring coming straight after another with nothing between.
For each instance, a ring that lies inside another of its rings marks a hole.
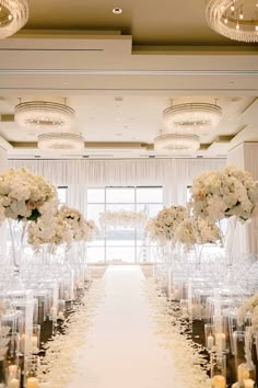
<instances>
[{"instance_id":1,"label":"cream and tan recessed ceiling around the chandeliers","mask_svg":"<svg viewBox=\"0 0 258 388\"><path fill-rule=\"evenodd\" d=\"M10 158L172 157L155 152L153 138L162 111L185 102L218 103L223 117L184 157L225 158L258 140L257 44L211 31L204 1L183 10L179 0L45 0L30 10L25 28L0 41L0 146ZM39 151L36 132L13 121L19 99L67 99L85 149Z\"/></svg>"}]
</instances>

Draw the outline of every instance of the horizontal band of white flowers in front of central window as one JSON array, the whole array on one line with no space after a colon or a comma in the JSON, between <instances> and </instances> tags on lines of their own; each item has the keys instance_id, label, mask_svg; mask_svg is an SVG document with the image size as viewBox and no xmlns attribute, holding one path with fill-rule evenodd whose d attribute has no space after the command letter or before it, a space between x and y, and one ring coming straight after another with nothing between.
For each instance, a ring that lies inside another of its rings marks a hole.
<instances>
[{"instance_id":1,"label":"horizontal band of white flowers in front of central window","mask_svg":"<svg viewBox=\"0 0 258 388\"><path fill-rule=\"evenodd\" d=\"M146 215L143 212L105 212L99 216L102 228L144 228Z\"/></svg>"}]
</instances>

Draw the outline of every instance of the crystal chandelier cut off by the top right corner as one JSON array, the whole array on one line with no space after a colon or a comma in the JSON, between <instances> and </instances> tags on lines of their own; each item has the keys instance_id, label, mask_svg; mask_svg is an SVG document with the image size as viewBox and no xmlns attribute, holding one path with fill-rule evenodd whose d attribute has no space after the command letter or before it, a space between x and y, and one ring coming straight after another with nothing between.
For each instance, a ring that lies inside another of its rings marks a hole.
<instances>
[{"instance_id":1,"label":"crystal chandelier cut off by the top right corner","mask_svg":"<svg viewBox=\"0 0 258 388\"><path fill-rule=\"evenodd\" d=\"M258 42L257 1L208 0L206 18L209 26L233 41Z\"/></svg>"}]
</instances>

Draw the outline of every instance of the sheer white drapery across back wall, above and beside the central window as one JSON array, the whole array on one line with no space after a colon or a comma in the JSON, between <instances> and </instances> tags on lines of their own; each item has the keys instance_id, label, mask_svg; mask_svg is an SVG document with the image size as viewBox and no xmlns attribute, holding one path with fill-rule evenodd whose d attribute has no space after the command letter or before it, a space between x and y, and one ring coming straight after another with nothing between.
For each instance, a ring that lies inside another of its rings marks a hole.
<instances>
[{"instance_id":1,"label":"sheer white drapery across back wall, above and beside the central window","mask_svg":"<svg viewBox=\"0 0 258 388\"><path fill-rule=\"evenodd\" d=\"M25 167L56 186L68 186L68 203L82 212L86 189L104 186L161 185L164 205L183 205L194 176L225 163L225 159L10 160L12 168Z\"/></svg>"}]
</instances>

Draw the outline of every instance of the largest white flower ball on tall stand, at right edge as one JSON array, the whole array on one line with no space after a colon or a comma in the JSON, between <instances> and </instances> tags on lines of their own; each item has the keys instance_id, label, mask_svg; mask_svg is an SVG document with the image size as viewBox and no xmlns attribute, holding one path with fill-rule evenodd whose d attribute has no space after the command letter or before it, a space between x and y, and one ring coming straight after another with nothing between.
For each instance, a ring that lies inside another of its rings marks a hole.
<instances>
[{"instance_id":1,"label":"largest white flower ball on tall stand, at right edge","mask_svg":"<svg viewBox=\"0 0 258 388\"><path fill-rule=\"evenodd\" d=\"M258 184L247 171L226 167L209 171L194 179L191 207L196 217L212 221L236 216L248 220L258 201Z\"/></svg>"}]
</instances>

